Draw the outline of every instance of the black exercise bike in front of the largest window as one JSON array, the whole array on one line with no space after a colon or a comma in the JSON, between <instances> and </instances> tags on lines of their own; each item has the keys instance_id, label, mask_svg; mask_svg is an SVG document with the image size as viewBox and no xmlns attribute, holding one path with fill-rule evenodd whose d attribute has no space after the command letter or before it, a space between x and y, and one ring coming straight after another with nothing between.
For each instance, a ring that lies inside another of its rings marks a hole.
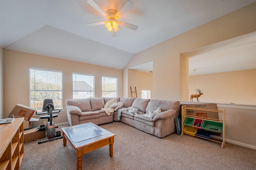
<instances>
[{"instance_id":1,"label":"black exercise bike in front of the largest window","mask_svg":"<svg viewBox=\"0 0 256 170\"><path fill-rule=\"evenodd\" d=\"M45 116L40 116L40 119L46 119L48 118L48 122L46 123L46 137L47 139L44 141L39 141L38 144L40 143L45 143L45 142L49 142L49 141L53 141L53 140L57 140L57 139L61 139L63 138L63 136L61 135L61 131L55 131L55 126L54 126L54 122L52 121L52 111L54 110L54 105L52 103L48 103L45 105L47 110L47 115ZM60 112L60 110L58 111ZM55 113L58 113L55 112ZM57 117L58 115L54 115L54 117Z\"/></svg>"}]
</instances>

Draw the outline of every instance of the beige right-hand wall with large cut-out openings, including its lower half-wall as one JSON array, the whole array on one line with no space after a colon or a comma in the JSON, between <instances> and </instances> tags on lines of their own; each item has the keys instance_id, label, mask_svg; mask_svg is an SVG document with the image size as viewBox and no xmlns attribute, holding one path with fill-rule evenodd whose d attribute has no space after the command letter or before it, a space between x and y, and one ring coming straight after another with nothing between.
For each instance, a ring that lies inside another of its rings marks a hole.
<instances>
[{"instance_id":1,"label":"beige right-hand wall with large cut-out openings, including its lower half-wall","mask_svg":"<svg viewBox=\"0 0 256 170\"><path fill-rule=\"evenodd\" d=\"M153 61L154 98L160 100L188 101L190 95L188 86L188 59L181 54L206 45L254 32L256 31L255 21L256 3L253 3L136 53L123 70L124 97L129 95L128 69ZM247 83L250 84L252 81L249 80ZM226 86L225 84L223 85ZM205 96L208 96L208 94ZM229 100L233 99L234 98L227 100L229 102ZM250 114L246 116L243 115L243 113L247 113L246 110L241 112L240 109L234 108L227 109L226 112L226 121L228 123L226 139L236 141L237 143L253 145L253 147L256 148L256 143L253 142L256 141L256 136L252 135L255 134L255 128L252 128L255 127L256 109L248 111ZM254 117L254 119L251 119L251 117ZM232 121L232 119L241 121ZM248 125L253 126L250 129L247 128ZM243 126L246 127L246 133L243 133ZM234 129L240 130L235 131Z\"/></svg>"}]
</instances>

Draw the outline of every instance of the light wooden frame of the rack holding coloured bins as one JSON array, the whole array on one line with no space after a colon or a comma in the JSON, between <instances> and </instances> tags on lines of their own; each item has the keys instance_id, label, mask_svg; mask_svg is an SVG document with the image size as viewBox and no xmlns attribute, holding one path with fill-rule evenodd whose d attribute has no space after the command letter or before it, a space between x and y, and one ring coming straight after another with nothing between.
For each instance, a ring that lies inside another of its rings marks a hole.
<instances>
[{"instance_id":1,"label":"light wooden frame of the rack holding coloured bins","mask_svg":"<svg viewBox=\"0 0 256 170\"><path fill-rule=\"evenodd\" d=\"M218 113L222 113L222 120L221 119L211 119L211 118L207 118L207 117L198 117L198 116L193 116L193 115L187 115L187 109L190 109L190 110L200 110L200 111L211 111L211 112L216 112L216 114ZM182 133L181 133L181 136L184 135L184 128L188 125L185 125L184 122L186 120L186 117L191 117L191 118L194 118L194 119L201 119L201 120L208 120L208 121L213 121L213 122L221 122L222 125L223 125L223 131L222 132L219 132L219 131L214 131L214 130L210 130L210 129L206 129L207 131L212 131L213 133L214 132L217 132L217 133L221 133L222 134L222 137L211 137L210 139L206 138L206 137L200 137L200 136L197 136L195 135L195 137L199 137L199 138L203 138L203 139L207 139L207 140L210 140L210 141L214 141L214 142L218 142L218 143L221 143L221 148L224 147L225 143L226 143L226 110L223 109L223 110L214 110L214 109L201 109L201 108L194 108L194 107L187 107L187 106L182 106ZM191 126L192 127L192 126ZM205 129L205 128L202 128L202 127L198 127L198 129Z\"/></svg>"}]
</instances>

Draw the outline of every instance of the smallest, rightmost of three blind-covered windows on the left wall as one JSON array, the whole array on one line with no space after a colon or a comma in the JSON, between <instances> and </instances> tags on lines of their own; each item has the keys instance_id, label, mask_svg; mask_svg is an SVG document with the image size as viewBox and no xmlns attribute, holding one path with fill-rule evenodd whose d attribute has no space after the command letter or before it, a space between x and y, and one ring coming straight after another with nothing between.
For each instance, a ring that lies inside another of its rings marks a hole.
<instances>
[{"instance_id":1,"label":"smallest, rightmost of three blind-covered windows on the left wall","mask_svg":"<svg viewBox=\"0 0 256 170\"><path fill-rule=\"evenodd\" d=\"M102 97L117 97L117 78L102 76Z\"/></svg>"}]
</instances>

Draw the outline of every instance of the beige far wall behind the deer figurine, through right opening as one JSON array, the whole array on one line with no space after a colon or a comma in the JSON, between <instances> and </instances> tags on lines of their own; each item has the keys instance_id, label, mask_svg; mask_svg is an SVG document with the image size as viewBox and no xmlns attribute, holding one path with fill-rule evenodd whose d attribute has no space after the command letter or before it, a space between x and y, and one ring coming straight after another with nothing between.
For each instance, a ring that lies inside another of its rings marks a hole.
<instances>
[{"instance_id":1,"label":"beige far wall behind the deer figurine, through right opening","mask_svg":"<svg viewBox=\"0 0 256 170\"><path fill-rule=\"evenodd\" d=\"M200 102L256 104L256 69L198 75L195 84L204 93ZM194 76L189 77L189 94L194 94Z\"/></svg>"}]
</instances>

